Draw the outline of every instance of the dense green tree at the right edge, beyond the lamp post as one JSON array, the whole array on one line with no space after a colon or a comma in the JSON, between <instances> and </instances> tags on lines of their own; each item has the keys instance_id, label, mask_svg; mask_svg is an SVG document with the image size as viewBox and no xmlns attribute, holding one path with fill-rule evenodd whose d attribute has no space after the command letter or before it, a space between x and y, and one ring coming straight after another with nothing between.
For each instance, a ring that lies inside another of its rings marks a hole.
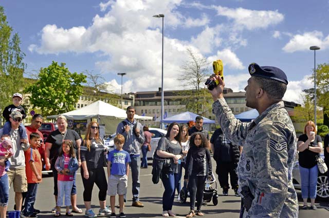
<instances>
[{"instance_id":1,"label":"dense green tree at the right edge, beyond the lamp post","mask_svg":"<svg viewBox=\"0 0 329 218\"><path fill-rule=\"evenodd\" d=\"M329 126L329 64L319 64L316 71L318 105L323 107L323 124Z\"/></svg>"}]
</instances>

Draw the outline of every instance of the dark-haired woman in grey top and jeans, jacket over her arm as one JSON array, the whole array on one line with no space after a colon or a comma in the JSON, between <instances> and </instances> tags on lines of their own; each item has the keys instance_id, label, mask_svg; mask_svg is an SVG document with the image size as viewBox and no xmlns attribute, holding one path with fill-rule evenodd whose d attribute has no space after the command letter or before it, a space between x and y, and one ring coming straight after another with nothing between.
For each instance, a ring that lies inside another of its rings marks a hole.
<instances>
[{"instance_id":1,"label":"dark-haired woman in grey top and jeans, jacket over her arm","mask_svg":"<svg viewBox=\"0 0 329 218\"><path fill-rule=\"evenodd\" d=\"M162 137L158 143L156 154L160 157L169 158L170 165L162 168L161 180L165 187L162 196L162 216L176 216L172 211L175 190L180 179L180 163L182 158L181 137L179 125L174 122L169 125L165 137Z\"/></svg>"}]
</instances>

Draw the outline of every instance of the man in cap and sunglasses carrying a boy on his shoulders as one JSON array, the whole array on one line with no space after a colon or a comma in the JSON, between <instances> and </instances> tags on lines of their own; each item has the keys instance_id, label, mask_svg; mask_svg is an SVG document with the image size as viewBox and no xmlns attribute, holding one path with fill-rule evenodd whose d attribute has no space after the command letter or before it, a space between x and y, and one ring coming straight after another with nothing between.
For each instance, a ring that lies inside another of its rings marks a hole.
<instances>
[{"instance_id":1,"label":"man in cap and sunglasses carrying a boy on his shoulders","mask_svg":"<svg viewBox=\"0 0 329 218\"><path fill-rule=\"evenodd\" d=\"M19 126L22 122L23 115L19 111L13 111L9 115L9 121L11 124L11 130L9 137L12 141L12 155L8 160L10 161L10 170L7 172L9 186L13 184L15 192L15 204L16 210L22 209L22 192L27 191L27 180L25 174L25 156L24 151L29 148L27 139L21 139L19 133ZM2 130L0 131L0 137L3 135ZM2 165L3 163L0 162Z\"/></svg>"}]
</instances>

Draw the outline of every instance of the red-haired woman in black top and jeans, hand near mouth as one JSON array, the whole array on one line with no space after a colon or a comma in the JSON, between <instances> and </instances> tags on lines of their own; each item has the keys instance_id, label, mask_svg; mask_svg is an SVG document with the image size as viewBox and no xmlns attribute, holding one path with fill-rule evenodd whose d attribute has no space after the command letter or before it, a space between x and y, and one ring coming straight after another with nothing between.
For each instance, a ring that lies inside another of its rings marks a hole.
<instances>
[{"instance_id":1,"label":"red-haired woman in black top and jeans, hand near mouth","mask_svg":"<svg viewBox=\"0 0 329 218\"><path fill-rule=\"evenodd\" d=\"M322 152L321 136L317 135L316 126L308 121L304 127L304 134L298 137L299 172L302 181L302 209L307 210L307 198L310 198L310 209L316 210L314 205L317 195L318 165L316 156Z\"/></svg>"}]
</instances>

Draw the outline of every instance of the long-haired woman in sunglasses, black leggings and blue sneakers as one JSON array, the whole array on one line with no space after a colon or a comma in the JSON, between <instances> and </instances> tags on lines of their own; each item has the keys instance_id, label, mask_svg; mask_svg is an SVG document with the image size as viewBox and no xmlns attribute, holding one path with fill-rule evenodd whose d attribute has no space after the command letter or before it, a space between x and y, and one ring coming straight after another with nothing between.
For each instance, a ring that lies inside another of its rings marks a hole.
<instances>
[{"instance_id":1,"label":"long-haired woman in sunglasses, black leggings and blue sneakers","mask_svg":"<svg viewBox=\"0 0 329 218\"><path fill-rule=\"evenodd\" d=\"M81 175L83 182L83 201L86 207L85 216L96 217L91 208L92 191L94 183L99 188L98 199L100 209L99 215L110 214L106 205L107 182L104 171L104 142L99 137L99 125L96 121L92 121L87 125L87 133L83 145L81 146Z\"/></svg>"}]
</instances>

